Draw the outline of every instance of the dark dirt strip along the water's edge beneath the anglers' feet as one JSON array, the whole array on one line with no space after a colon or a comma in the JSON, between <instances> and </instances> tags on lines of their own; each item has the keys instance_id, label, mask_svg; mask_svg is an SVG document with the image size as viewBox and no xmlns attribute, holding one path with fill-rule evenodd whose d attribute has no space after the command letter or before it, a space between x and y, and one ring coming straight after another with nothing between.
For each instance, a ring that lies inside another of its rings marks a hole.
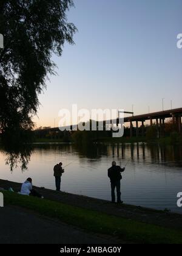
<instances>
[{"instance_id":1,"label":"dark dirt strip along the water's edge beneath the anglers' feet","mask_svg":"<svg viewBox=\"0 0 182 256\"><path fill-rule=\"evenodd\" d=\"M12 187L15 191L19 191L21 184L9 182L7 180L0 180L0 187ZM108 215L120 216L127 219L134 219L149 224L156 224L158 226L169 227L172 229L182 229L182 215L175 213L166 213L163 211L152 210L144 207L137 207L133 205L118 205L112 204L109 201L101 199L94 199L86 196L78 196L75 194L62 193L48 189L34 187L41 193L45 199L62 202L69 205L75 205L90 210L106 213Z\"/></svg>"}]
</instances>

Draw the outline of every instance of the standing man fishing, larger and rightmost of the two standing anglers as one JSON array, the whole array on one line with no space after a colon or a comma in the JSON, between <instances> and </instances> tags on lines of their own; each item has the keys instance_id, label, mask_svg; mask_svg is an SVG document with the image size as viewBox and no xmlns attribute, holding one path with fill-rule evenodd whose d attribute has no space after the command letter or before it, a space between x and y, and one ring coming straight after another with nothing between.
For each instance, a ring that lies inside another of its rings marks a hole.
<instances>
[{"instance_id":1,"label":"standing man fishing, larger and rightmost of the two standing anglers","mask_svg":"<svg viewBox=\"0 0 182 256\"><path fill-rule=\"evenodd\" d=\"M108 177L110 178L110 184L111 184L111 196L112 196L112 202L115 203L115 188L117 191L117 202L123 203L121 201L121 172L123 172L125 168L121 168L120 166L116 166L116 162L112 162L112 167L108 169Z\"/></svg>"}]
</instances>

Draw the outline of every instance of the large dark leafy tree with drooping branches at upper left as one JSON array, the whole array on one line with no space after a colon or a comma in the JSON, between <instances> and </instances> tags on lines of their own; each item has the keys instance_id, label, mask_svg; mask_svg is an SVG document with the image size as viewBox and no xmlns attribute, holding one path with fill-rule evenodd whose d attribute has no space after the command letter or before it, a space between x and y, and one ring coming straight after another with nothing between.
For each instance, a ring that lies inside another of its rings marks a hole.
<instances>
[{"instance_id":1,"label":"large dark leafy tree with drooping branches at upper left","mask_svg":"<svg viewBox=\"0 0 182 256\"><path fill-rule=\"evenodd\" d=\"M52 54L61 56L64 43L73 44L76 27L67 22L73 0L1 0L0 133L5 146L29 139L38 95L49 74L55 74Z\"/></svg>"}]
</instances>

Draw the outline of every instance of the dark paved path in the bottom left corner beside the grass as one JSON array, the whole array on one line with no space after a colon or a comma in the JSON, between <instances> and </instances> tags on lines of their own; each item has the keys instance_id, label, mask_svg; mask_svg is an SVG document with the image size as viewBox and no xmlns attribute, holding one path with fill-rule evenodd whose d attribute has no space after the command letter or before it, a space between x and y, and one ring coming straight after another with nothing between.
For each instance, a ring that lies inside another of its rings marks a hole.
<instances>
[{"instance_id":1,"label":"dark paved path in the bottom left corner beside the grass","mask_svg":"<svg viewBox=\"0 0 182 256\"><path fill-rule=\"evenodd\" d=\"M0 207L0 230L0 244L116 243L12 206Z\"/></svg>"}]
</instances>

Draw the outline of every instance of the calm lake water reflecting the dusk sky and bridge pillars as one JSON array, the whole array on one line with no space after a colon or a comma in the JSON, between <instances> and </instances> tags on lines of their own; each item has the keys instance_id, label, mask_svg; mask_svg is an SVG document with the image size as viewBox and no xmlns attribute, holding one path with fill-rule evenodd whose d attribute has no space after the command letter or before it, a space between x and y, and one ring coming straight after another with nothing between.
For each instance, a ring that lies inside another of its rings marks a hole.
<instances>
[{"instance_id":1,"label":"calm lake water reflecting the dusk sky and bridge pillars","mask_svg":"<svg viewBox=\"0 0 182 256\"><path fill-rule=\"evenodd\" d=\"M92 144L76 148L72 144L34 144L29 169L10 171L5 152L0 151L0 179L24 182L32 177L38 187L55 189L53 166L67 166L61 190L110 200L107 169L116 160L129 163L121 181L122 199L127 204L182 213L177 207L177 193L182 191L182 147L146 144ZM1 187L1 184L0 184Z\"/></svg>"}]
</instances>

